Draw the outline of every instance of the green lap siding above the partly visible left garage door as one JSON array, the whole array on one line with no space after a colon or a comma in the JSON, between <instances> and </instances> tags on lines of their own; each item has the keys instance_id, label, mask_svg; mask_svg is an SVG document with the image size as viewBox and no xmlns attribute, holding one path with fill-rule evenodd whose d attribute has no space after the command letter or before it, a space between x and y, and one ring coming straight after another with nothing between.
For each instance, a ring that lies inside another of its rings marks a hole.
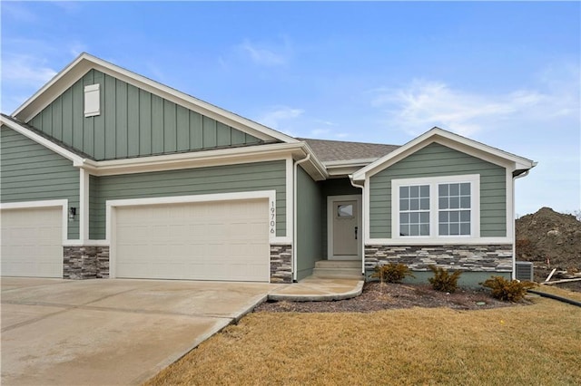
<instances>
[{"instance_id":1,"label":"green lap siding above the partly visible left garage door","mask_svg":"<svg viewBox=\"0 0 581 386\"><path fill-rule=\"evenodd\" d=\"M73 162L3 126L0 129L0 200L3 203L68 199L79 207L79 170ZM79 217L68 222L79 238Z\"/></svg>"}]
</instances>

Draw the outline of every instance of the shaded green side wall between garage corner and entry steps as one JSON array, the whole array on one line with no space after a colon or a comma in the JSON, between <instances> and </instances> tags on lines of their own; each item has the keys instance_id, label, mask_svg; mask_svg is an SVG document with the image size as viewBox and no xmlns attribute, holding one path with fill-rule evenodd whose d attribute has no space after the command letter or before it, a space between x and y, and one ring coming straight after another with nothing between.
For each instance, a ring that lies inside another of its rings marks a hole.
<instances>
[{"instance_id":1,"label":"shaded green side wall between garage corner and entry steps","mask_svg":"<svg viewBox=\"0 0 581 386\"><path fill-rule=\"evenodd\" d=\"M311 275L315 262L322 256L322 207L320 185L297 168L297 280Z\"/></svg>"}]
</instances>

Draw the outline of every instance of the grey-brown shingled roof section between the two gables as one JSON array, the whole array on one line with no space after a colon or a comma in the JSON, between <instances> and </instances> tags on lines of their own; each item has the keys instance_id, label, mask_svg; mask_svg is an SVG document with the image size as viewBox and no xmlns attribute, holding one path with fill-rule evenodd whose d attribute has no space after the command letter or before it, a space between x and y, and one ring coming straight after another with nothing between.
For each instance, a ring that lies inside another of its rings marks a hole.
<instances>
[{"instance_id":1,"label":"grey-brown shingled roof section between the two gables","mask_svg":"<svg viewBox=\"0 0 581 386\"><path fill-rule=\"evenodd\" d=\"M304 140L321 162L348 159L379 159L396 150L399 146L379 143L347 142L343 140Z\"/></svg>"}]
</instances>

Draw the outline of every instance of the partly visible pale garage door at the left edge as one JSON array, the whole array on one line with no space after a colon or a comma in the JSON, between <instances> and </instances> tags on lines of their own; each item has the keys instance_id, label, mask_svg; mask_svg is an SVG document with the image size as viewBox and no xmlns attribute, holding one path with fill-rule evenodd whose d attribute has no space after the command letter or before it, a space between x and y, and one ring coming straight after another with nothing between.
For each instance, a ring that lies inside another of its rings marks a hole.
<instances>
[{"instance_id":1,"label":"partly visible pale garage door at the left edge","mask_svg":"<svg viewBox=\"0 0 581 386\"><path fill-rule=\"evenodd\" d=\"M63 277L63 209L3 209L2 275Z\"/></svg>"}]
</instances>

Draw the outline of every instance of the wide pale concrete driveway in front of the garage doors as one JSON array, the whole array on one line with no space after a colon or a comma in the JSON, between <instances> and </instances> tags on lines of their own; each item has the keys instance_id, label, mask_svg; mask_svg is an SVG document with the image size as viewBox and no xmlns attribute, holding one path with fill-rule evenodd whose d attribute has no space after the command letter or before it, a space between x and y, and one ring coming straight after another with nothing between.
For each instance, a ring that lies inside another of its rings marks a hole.
<instances>
[{"instance_id":1,"label":"wide pale concrete driveway in front of the garage doors","mask_svg":"<svg viewBox=\"0 0 581 386\"><path fill-rule=\"evenodd\" d=\"M280 285L2 278L2 384L137 384Z\"/></svg>"}]
</instances>

